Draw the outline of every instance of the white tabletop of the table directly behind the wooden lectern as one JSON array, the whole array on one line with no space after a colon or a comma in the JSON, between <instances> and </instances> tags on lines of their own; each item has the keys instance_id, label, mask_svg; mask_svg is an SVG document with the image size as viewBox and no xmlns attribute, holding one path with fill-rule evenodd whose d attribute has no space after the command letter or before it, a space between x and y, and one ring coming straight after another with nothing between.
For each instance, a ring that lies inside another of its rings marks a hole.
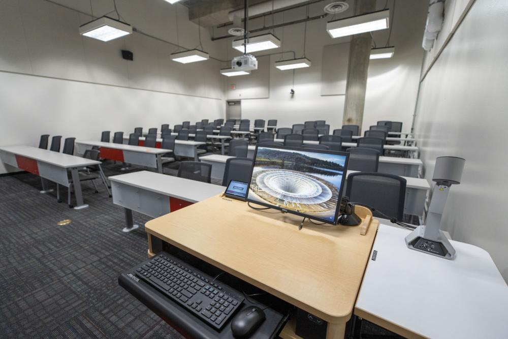
<instances>
[{"instance_id":1,"label":"white tabletop of the table directly behind the wooden lectern","mask_svg":"<svg viewBox=\"0 0 508 339\"><path fill-rule=\"evenodd\" d=\"M213 183L148 171L110 176L109 179L143 190L192 202L205 200L226 191L225 187Z\"/></svg>"}]
</instances>

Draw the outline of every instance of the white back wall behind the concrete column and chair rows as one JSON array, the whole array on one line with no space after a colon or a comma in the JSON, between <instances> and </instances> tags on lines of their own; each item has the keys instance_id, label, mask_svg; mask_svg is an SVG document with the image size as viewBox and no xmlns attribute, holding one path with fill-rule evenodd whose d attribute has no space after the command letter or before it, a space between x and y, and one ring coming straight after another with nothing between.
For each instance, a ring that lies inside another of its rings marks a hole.
<instances>
[{"instance_id":1,"label":"white back wall behind the concrete column and chair rows","mask_svg":"<svg viewBox=\"0 0 508 339\"><path fill-rule=\"evenodd\" d=\"M378 9L382 9L385 1L378 1ZM392 59L371 60L369 68L369 80L364 113L363 128L368 129L375 125L377 120L403 121L404 130L410 130L412 116L415 110L415 102L418 89L423 49L421 48L421 35L423 32L428 3L425 1L405 2L397 1L395 20L390 44L395 46L395 56ZM325 2L310 5L309 16L323 14ZM393 11L393 1L388 1L388 7ZM336 16L336 19L353 15L353 6L346 12ZM274 22L288 22L301 19L305 16L305 7L276 14ZM242 116L256 119L278 119L278 126L291 126L305 120L325 119L330 123L331 129L342 126L344 108L344 88L340 88L334 96L322 96L323 74L336 72L323 65L334 65L336 68L347 70L347 57L323 54L325 46L340 44L341 48L348 48L346 44L350 38L332 39L326 32L326 22L331 16L323 19L309 21L307 23L306 57L312 62L312 66L295 71L293 85L293 71L279 71L274 63L281 59L280 54L270 57L269 67L269 98L252 97L246 93L245 87L248 76L232 77L226 80L226 92L228 98L242 99ZM266 18L266 25L271 24L271 17ZM251 20L252 28L261 27L263 19ZM388 30L374 32L377 47L384 47ZM259 35L256 33L253 35ZM215 31L215 35L220 32ZM280 53L281 51L295 51L296 57L303 56L304 23L294 24L283 28L276 28L275 35L282 40L282 48L271 51L262 51L255 55L268 53ZM224 48L231 47L231 40L221 41ZM229 53L232 55L240 53ZM340 53L343 55L344 53ZM347 53L345 53L347 55ZM285 53L284 59L292 58L291 53ZM256 71L253 71L254 73ZM337 72L336 81L345 81L347 72ZM245 80L244 80L245 79ZM327 77L328 79L328 77ZM229 90L230 84L236 84L237 89ZM296 94L290 95L290 89L294 88ZM244 89L244 90L242 90ZM248 98L248 99L247 99ZM256 99L252 99L256 98Z\"/></svg>"}]
</instances>

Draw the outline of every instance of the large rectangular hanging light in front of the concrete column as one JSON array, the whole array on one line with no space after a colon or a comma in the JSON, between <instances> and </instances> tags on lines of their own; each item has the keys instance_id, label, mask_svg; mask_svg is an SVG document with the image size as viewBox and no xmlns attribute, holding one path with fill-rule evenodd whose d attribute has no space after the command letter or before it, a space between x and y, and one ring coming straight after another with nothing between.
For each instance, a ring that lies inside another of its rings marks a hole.
<instances>
[{"instance_id":1,"label":"large rectangular hanging light in front of the concrete column","mask_svg":"<svg viewBox=\"0 0 508 339\"><path fill-rule=\"evenodd\" d=\"M330 21L326 30L332 38L346 37L354 34L372 32L389 27L390 10L373 12L350 18Z\"/></svg>"}]
</instances>

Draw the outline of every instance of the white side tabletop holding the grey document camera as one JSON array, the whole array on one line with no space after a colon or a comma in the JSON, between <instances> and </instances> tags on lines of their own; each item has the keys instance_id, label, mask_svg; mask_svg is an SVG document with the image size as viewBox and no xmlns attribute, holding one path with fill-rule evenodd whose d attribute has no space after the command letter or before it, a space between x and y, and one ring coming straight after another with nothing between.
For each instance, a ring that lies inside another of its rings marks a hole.
<instances>
[{"instance_id":1,"label":"white side tabletop holding the grey document camera","mask_svg":"<svg viewBox=\"0 0 508 339\"><path fill-rule=\"evenodd\" d=\"M409 250L409 232L379 225L355 314L404 336L505 338L508 288L490 255L453 240L454 260Z\"/></svg>"}]
</instances>

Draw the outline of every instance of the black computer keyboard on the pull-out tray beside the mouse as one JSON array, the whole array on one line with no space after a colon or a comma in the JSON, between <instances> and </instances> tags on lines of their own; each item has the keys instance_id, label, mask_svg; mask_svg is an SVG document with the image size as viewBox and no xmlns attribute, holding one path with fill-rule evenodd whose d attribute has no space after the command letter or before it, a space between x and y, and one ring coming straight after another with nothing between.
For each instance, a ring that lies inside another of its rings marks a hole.
<instances>
[{"instance_id":1,"label":"black computer keyboard on the pull-out tray beside the mouse","mask_svg":"<svg viewBox=\"0 0 508 339\"><path fill-rule=\"evenodd\" d=\"M143 263L136 275L217 330L245 299L241 292L165 252Z\"/></svg>"}]
</instances>

